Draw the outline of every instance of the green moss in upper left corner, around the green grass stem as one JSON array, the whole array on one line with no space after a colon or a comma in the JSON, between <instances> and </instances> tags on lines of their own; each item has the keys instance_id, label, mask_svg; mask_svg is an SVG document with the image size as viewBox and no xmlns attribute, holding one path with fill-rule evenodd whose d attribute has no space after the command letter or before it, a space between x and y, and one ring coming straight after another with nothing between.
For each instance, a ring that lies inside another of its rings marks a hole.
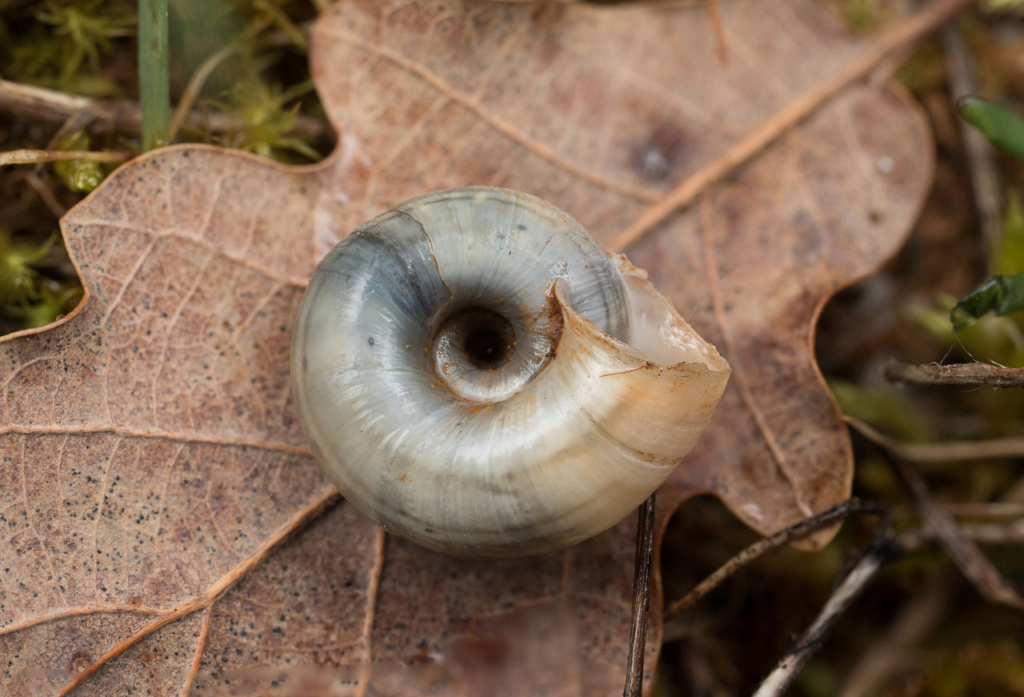
<instances>
[{"instance_id":1,"label":"green moss in upper left corner, around the green grass stem","mask_svg":"<svg viewBox=\"0 0 1024 697\"><path fill-rule=\"evenodd\" d=\"M306 58L305 27L316 15L312 3L171 0L169 10L172 103L211 55L225 46L237 47L216 67L203 96L207 105L239 115L242 126L227 134L190 130L182 140L216 142L286 163L322 157L294 133L301 111L318 110ZM136 16L135 0L0 0L3 77L90 97L135 98ZM19 128L25 137L12 145L66 150L138 146L123 133L100 131L91 137L76 131L49 142L57 125L41 126ZM75 160L56 163L53 169L68 189L86 193L114 167ZM82 294L62 247L52 236L50 209L12 172L6 170L3 181L11 198L34 202L19 206L32 209L32 215L0 230L0 333L52 321L70 311ZM53 188L59 205L74 204L54 179L44 176L42 181ZM25 222L33 219L37 222Z\"/></svg>"}]
</instances>

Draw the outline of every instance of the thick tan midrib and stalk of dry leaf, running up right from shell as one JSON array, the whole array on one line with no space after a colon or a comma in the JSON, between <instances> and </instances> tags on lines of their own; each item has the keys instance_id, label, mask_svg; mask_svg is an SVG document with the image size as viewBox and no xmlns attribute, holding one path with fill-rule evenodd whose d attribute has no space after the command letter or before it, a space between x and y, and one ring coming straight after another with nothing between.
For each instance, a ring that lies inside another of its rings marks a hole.
<instances>
[{"instance_id":1,"label":"thick tan midrib and stalk of dry leaf, running up right from shell","mask_svg":"<svg viewBox=\"0 0 1024 697\"><path fill-rule=\"evenodd\" d=\"M937 0L883 33L866 53L845 64L826 81L791 100L772 118L741 137L721 156L651 205L622 234L608 245L609 252L622 252L636 243L677 210L690 205L712 184L721 181L739 166L817 112L850 85L862 80L890 56L931 34L974 0Z\"/></svg>"}]
</instances>

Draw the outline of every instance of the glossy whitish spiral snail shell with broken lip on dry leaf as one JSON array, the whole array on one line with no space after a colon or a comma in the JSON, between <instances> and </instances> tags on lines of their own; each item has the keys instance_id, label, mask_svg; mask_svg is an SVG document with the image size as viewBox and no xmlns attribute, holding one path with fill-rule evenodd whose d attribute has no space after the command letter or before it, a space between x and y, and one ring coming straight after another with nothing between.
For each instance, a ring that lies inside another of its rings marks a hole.
<instances>
[{"instance_id":1,"label":"glossy whitish spiral snail shell with broken lip on dry leaf","mask_svg":"<svg viewBox=\"0 0 1024 697\"><path fill-rule=\"evenodd\" d=\"M342 494L463 556L614 525L693 447L729 373L572 217L482 186L415 199L339 243L292 341L302 428Z\"/></svg>"}]
</instances>

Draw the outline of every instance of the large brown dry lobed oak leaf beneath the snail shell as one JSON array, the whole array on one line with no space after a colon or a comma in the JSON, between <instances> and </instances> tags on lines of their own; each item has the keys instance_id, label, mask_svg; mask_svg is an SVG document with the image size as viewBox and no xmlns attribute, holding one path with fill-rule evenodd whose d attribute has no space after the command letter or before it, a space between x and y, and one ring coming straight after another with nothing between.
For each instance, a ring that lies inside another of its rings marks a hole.
<instances>
[{"instance_id":1,"label":"large brown dry lobed oak leaf beneath the snail shell","mask_svg":"<svg viewBox=\"0 0 1024 697\"><path fill-rule=\"evenodd\" d=\"M700 6L344 2L311 51L329 163L171 148L70 213L87 300L0 346L0 694L618 692L634 522L521 561L385 538L309 456L291 321L326 249L430 189L524 189L609 244L879 46L805 0L721 12L727 69ZM698 491L765 532L848 493L813 324L901 244L931 146L873 84L782 130L630 248L734 369L663 525Z\"/></svg>"}]
</instances>

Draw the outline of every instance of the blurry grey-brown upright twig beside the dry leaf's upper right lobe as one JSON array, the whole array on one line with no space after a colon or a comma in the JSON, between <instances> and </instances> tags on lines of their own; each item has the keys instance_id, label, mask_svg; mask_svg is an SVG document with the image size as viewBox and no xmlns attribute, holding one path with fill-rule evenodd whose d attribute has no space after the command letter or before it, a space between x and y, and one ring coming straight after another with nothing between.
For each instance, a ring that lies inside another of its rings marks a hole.
<instances>
[{"instance_id":1,"label":"blurry grey-brown upright twig beside the dry leaf's upper right lobe","mask_svg":"<svg viewBox=\"0 0 1024 697\"><path fill-rule=\"evenodd\" d=\"M955 100L978 94L980 90L975 79L974 59L964 42L964 37L961 36L959 28L947 25L942 29L942 47L946 54L949 91L952 98ZM993 251L999 248L1002 237L1000 222L1002 203L999 201L999 183L995 160L992 157L992 145L978 129L973 128L965 120L957 119L957 125L961 140L964 142L964 155L968 174L971 176L971 189L974 191L974 204L978 209L983 242L986 252L991 256Z\"/></svg>"}]
</instances>

